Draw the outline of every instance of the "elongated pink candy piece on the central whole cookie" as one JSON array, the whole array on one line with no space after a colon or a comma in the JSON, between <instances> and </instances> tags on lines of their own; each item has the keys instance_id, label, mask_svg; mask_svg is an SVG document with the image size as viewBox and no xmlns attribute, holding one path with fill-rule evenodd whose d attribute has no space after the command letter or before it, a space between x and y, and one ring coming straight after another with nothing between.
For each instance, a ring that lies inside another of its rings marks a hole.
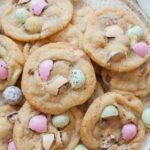
<instances>
[{"instance_id":1,"label":"elongated pink candy piece on the central whole cookie","mask_svg":"<svg viewBox=\"0 0 150 150\"><path fill-rule=\"evenodd\" d=\"M39 65L39 75L42 81L47 81L50 71L53 68L52 60L44 60Z\"/></svg>"}]
</instances>

